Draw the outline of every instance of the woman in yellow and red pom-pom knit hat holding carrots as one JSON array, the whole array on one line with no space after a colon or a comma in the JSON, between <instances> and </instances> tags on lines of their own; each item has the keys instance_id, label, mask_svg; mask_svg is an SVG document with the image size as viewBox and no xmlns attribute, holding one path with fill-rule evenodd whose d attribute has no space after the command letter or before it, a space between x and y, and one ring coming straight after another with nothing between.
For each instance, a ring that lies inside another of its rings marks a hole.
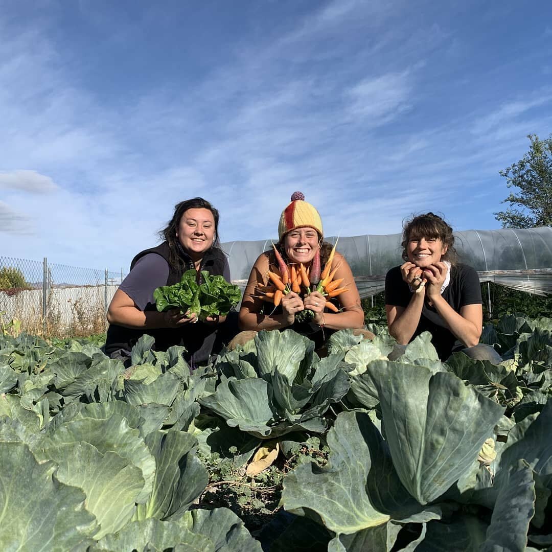
<instances>
[{"instance_id":1,"label":"woman in yellow and red pom-pom knit hat holding carrots","mask_svg":"<svg viewBox=\"0 0 552 552\"><path fill-rule=\"evenodd\" d=\"M322 220L319 212L305 201L301 192L295 192L289 205L282 211L278 237L276 247L288 265L295 264L299 267L302 263L309 267L319 250L323 267L332 250L329 243L322 241ZM305 297L291 291L283 296L278 307L263 301L256 295L257 286L267 285L268 271L278 272L277 267L273 251L262 253L253 265L239 314L240 328L244 331L232 340L231 348L248 341L259 330L291 328L315 341L317 349L333 332L344 328L359 328L367 337L373 337L373 334L362 329L364 312L360 306L360 296L351 268L341 254L336 252L332 263L332 267L338 267L335 279L343 278L343 284L348 289L336 298L339 312L327 309L327 299L319 291L312 291ZM310 321L298 320L302 317L299 313L304 310L310 310L314 314Z\"/></svg>"}]
</instances>

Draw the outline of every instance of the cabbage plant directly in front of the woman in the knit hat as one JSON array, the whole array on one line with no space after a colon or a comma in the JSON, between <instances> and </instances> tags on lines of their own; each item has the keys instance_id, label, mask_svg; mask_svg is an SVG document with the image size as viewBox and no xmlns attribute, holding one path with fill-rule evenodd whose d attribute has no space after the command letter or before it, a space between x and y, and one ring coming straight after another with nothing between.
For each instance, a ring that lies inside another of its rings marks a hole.
<instances>
[{"instance_id":1,"label":"cabbage plant directly in front of the woman in the knit hat","mask_svg":"<svg viewBox=\"0 0 552 552\"><path fill-rule=\"evenodd\" d=\"M323 415L349 390L344 353L320 359L314 343L291 330L259 332L217 359L216 390L202 406L259 439L294 431L323 433Z\"/></svg>"}]
</instances>

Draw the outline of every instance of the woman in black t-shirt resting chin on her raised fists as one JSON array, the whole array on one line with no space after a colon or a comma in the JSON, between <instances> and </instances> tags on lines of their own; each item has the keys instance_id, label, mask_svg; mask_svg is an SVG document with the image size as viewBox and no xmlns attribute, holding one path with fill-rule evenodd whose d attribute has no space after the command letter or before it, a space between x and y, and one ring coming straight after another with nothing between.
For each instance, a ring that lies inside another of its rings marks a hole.
<instances>
[{"instance_id":1,"label":"woman in black t-shirt resting chin on her raised fists","mask_svg":"<svg viewBox=\"0 0 552 552\"><path fill-rule=\"evenodd\" d=\"M389 333L406 345L424 331L439 358L462 351L498 363L500 355L479 343L483 311L477 272L456 261L452 228L427 213L408 221L402 234L405 263L385 278Z\"/></svg>"}]
</instances>

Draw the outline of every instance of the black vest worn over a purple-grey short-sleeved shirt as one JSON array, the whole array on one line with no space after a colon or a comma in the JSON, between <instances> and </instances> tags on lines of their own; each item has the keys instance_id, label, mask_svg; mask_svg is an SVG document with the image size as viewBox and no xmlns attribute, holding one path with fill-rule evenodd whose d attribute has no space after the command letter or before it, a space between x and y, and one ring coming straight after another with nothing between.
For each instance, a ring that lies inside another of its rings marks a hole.
<instances>
[{"instance_id":1,"label":"black vest worn over a purple-grey short-sleeved shirt","mask_svg":"<svg viewBox=\"0 0 552 552\"><path fill-rule=\"evenodd\" d=\"M149 253L156 253L163 257L169 266L169 275L165 285L174 285L181 281L182 274L189 269L194 268L194 263L190 257L184 252L181 252L181 258L185 262L183 268L175 269L168 262L169 247L167 242L163 242L157 247L146 249L138 253L130 263L130 270L135 264ZM227 261L226 256L219 248L213 247L205 252L201 259L201 270L206 270L209 274L223 275ZM148 303L145 311L157 310L155 303ZM166 351L173 345L182 345L187 349L184 354L187 362L197 364L204 362L209 358L213 343L216 337L216 326L197 322L187 324L184 328L159 328L157 330L134 330L125 328L116 324L110 324L105 340L105 354L110 355L118 349L130 351L134 344L143 335L150 335L155 338L153 348L156 351Z\"/></svg>"}]
</instances>

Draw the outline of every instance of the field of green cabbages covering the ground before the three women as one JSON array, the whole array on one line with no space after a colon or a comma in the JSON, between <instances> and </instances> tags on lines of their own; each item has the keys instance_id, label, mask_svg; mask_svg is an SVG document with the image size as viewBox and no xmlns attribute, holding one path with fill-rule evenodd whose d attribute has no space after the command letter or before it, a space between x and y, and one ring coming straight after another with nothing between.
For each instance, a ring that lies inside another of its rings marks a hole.
<instances>
[{"instance_id":1,"label":"field of green cabbages covering the ground before the three women","mask_svg":"<svg viewBox=\"0 0 552 552\"><path fill-rule=\"evenodd\" d=\"M260 332L193 373L148 337L125 369L0 335L2 549L549 549L552 320L487 326L497 366L427 334L391 362L370 329L322 359Z\"/></svg>"}]
</instances>

